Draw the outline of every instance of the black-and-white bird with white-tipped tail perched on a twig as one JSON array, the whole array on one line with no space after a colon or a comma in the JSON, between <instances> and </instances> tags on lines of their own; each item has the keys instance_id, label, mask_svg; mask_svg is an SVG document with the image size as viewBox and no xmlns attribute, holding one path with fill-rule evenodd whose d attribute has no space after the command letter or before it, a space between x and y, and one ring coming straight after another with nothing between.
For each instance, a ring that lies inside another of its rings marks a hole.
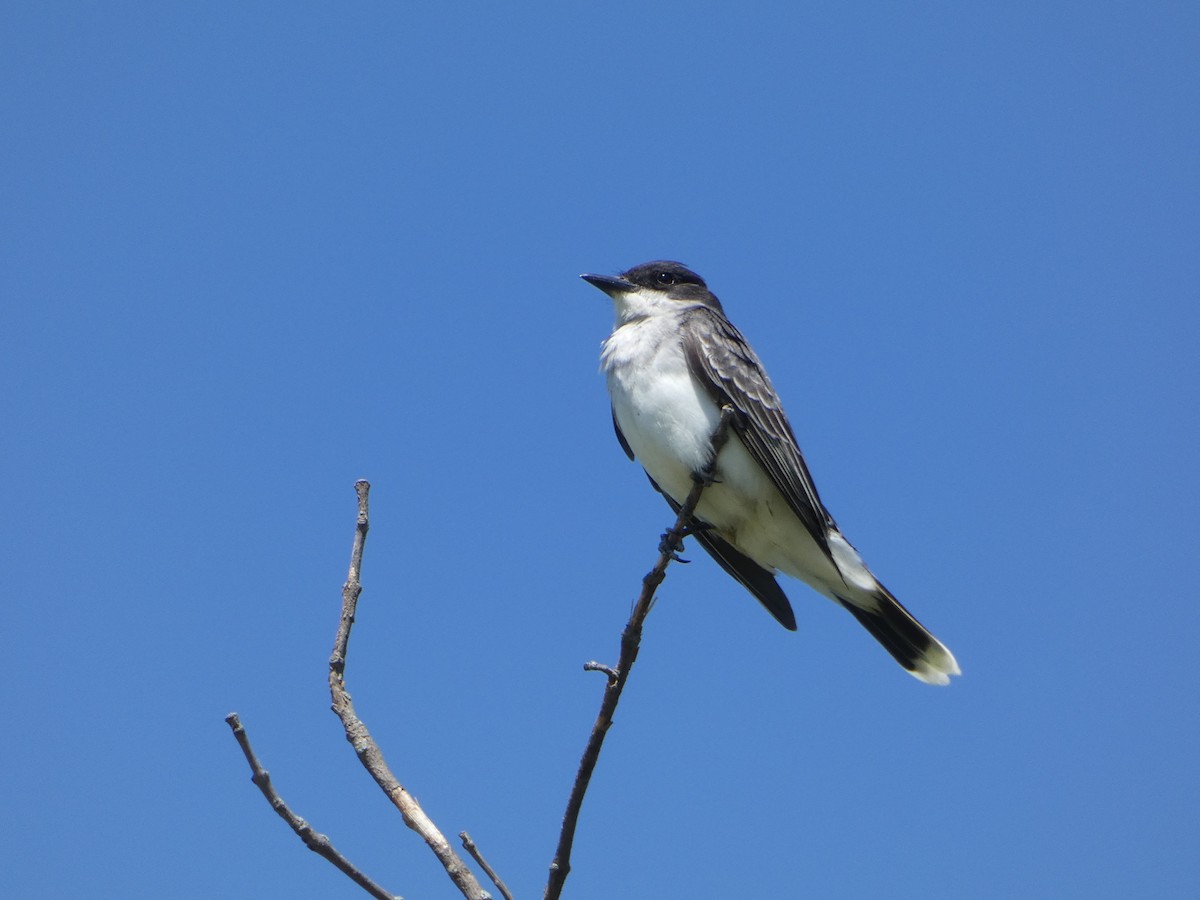
<instances>
[{"instance_id":1,"label":"black-and-white bird with white-tipped tail perched on a twig","mask_svg":"<svg viewBox=\"0 0 1200 900\"><path fill-rule=\"evenodd\" d=\"M838 528L758 354L704 280L666 259L580 277L614 307L600 368L617 439L676 512L710 472L689 532L713 559L791 631L779 572L846 608L914 678L944 685L961 674ZM709 470L725 407L732 427Z\"/></svg>"}]
</instances>

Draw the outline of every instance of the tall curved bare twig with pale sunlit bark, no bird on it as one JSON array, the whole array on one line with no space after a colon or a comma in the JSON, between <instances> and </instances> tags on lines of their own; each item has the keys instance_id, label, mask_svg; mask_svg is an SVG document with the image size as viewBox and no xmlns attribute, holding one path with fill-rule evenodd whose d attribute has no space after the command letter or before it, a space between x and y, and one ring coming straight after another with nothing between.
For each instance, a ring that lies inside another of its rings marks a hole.
<instances>
[{"instance_id":1,"label":"tall curved bare twig with pale sunlit bark, no bird on it","mask_svg":"<svg viewBox=\"0 0 1200 900\"><path fill-rule=\"evenodd\" d=\"M350 570L342 587L342 618L337 626L337 636L334 638L334 652L329 658L329 692L332 696L332 709L337 718L342 720L346 728L346 739L350 742L359 761L371 773L383 792L400 810L404 818L404 824L416 832L433 851L433 854L446 870L446 875L454 881L455 887L462 892L468 900L490 900L488 894L480 886L475 875L450 846L433 821L425 815L416 799L404 790L396 776L388 768L383 758L383 751L376 744L374 738L367 731L367 726L359 719L354 710L354 703L346 690L346 653L350 641L350 628L354 625L354 613L362 593L359 583L359 574L362 570L362 545L366 542L368 516L367 494L371 485L366 481L356 481L354 490L359 496L358 526L354 529L354 547L350 551Z\"/></svg>"}]
</instances>

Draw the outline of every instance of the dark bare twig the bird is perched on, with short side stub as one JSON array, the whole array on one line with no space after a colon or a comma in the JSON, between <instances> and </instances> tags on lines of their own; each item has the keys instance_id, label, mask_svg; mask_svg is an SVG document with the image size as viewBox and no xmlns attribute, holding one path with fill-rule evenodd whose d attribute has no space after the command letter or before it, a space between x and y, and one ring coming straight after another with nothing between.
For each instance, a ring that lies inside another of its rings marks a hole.
<instances>
[{"instance_id":1,"label":"dark bare twig the bird is perched on, with short side stub","mask_svg":"<svg viewBox=\"0 0 1200 900\"><path fill-rule=\"evenodd\" d=\"M542 895L544 900L558 900L558 896L563 892L563 884L566 882L566 876L571 871L571 846L575 842L575 827L578 823L580 809L583 806L583 794L587 793L588 782L592 780L592 772L600 758L600 749L604 746L608 726L612 725L613 713L617 712L617 703L620 702L620 692L625 689L625 682L629 679L629 671L637 660L637 650L642 642L642 625L650 612L650 607L654 605L654 592L666 577L667 566L673 559L678 558L676 552L688 534L688 526L691 524L691 515L696 510L696 504L700 503L700 496L704 492L706 485L712 482L716 473L716 457L728 439L733 414L732 407L726 406L721 408L721 419L713 432L713 454L709 457L708 466L702 473L698 473L691 492L688 494L688 499L679 508L679 515L676 517L674 526L664 535L662 544L659 546L658 563L642 578L642 593L638 595L637 602L634 604L634 612L630 614L625 630L620 636L620 661L617 664L616 671L594 662L584 665L587 670L607 673L608 683L605 686L604 698L600 701L600 714L596 716L595 725L592 726L592 734L588 737L583 756L580 758L580 769L575 776L575 785L571 787L571 796L566 800L566 812L563 815L563 830L558 836L554 859L550 864L550 880L546 882L546 892Z\"/></svg>"}]
</instances>

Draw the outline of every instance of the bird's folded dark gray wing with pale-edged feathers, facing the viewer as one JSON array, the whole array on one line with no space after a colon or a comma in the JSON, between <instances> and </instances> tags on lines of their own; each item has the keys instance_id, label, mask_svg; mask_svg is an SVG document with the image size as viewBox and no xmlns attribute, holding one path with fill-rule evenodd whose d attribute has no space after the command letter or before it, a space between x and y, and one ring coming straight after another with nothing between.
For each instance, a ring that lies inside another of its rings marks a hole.
<instances>
[{"instance_id":1,"label":"bird's folded dark gray wing with pale-edged feathers, facing the viewer","mask_svg":"<svg viewBox=\"0 0 1200 900\"><path fill-rule=\"evenodd\" d=\"M740 415L734 430L755 461L770 476L800 522L826 553L826 534L838 526L821 503L779 395L758 355L728 319L715 310L689 310L680 326L692 376L718 406Z\"/></svg>"}]
</instances>

